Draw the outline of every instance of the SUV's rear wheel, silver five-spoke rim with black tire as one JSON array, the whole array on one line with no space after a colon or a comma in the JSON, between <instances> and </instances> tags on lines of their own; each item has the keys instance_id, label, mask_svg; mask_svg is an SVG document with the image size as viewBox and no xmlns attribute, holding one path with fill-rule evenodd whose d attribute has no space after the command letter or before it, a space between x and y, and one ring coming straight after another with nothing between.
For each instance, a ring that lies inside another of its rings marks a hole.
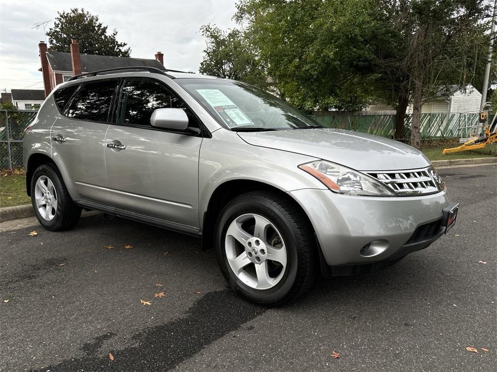
<instances>
[{"instance_id":1,"label":"SUV's rear wheel, silver five-spoke rim with black tire","mask_svg":"<svg viewBox=\"0 0 497 372\"><path fill-rule=\"evenodd\" d=\"M31 203L40 224L47 230L72 228L81 216L66 188L62 175L52 164L42 164L31 179Z\"/></svg>"}]
</instances>

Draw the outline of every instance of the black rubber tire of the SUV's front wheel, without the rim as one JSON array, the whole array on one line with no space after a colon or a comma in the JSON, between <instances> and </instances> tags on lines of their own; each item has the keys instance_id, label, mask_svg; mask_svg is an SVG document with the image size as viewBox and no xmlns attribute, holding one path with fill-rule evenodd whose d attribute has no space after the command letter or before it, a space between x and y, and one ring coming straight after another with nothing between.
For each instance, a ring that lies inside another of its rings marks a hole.
<instances>
[{"instance_id":1,"label":"black rubber tire of the SUV's front wheel, without the rim","mask_svg":"<svg viewBox=\"0 0 497 372\"><path fill-rule=\"evenodd\" d=\"M269 289L249 287L228 263L225 248L227 230L236 218L248 213L269 220L281 234L286 247L287 265L283 277ZM219 266L230 287L257 304L279 306L296 300L312 287L318 272L314 232L307 217L292 200L275 192L249 192L231 200L217 221L215 249Z\"/></svg>"}]
</instances>

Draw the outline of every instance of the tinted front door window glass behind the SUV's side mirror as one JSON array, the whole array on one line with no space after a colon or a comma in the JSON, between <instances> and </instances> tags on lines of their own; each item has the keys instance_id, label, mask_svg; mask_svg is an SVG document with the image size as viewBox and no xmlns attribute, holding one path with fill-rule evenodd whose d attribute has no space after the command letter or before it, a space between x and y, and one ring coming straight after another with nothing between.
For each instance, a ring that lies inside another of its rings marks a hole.
<instances>
[{"instance_id":1,"label":"tinted front door window glass behind the SUV's side mirror","mask_svg":"<svg viewBox=\"0 0 497 372\"><path fill-rule=\"evenodd\" d=\"M150 117L156 109L186 109L176 96L153 80L126 80L120 108L120 122L135 125L150 125Z\"/></svg>"}]
</instances>

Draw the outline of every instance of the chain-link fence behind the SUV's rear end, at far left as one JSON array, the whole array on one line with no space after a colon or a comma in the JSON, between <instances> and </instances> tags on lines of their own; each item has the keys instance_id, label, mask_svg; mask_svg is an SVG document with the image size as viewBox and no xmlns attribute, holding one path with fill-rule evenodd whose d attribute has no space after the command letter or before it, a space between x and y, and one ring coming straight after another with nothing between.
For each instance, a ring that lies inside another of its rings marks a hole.
<instances>
[{"instance_id":1,"label":"chain-link fence behind the SUV's rear end, at far left","mask_svg":"<svg viewBox=\"0 0 497 372\"><path fill-rule=\"evenodd\" d=\"M0 169L22 167L24 129L36 117L36 111L0 110Z\"/></svg>"}]
</instances>

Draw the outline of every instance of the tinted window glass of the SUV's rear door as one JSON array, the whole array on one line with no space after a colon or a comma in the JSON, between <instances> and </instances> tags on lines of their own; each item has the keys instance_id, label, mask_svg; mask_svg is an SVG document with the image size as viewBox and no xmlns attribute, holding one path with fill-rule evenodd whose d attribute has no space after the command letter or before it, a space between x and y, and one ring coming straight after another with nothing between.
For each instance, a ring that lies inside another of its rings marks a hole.
<instances>
[{"instance_id":1,"label":"tinted window glass of the SUV's rear door","mask_svg":"<svg viewBox=\"0 0 497 372\"><path fill-rule=\"evenodd\" d=\"M106 122L117 80L85 83L71 103L67 116L92 122Z\"/></svg>"}]
</instances>

